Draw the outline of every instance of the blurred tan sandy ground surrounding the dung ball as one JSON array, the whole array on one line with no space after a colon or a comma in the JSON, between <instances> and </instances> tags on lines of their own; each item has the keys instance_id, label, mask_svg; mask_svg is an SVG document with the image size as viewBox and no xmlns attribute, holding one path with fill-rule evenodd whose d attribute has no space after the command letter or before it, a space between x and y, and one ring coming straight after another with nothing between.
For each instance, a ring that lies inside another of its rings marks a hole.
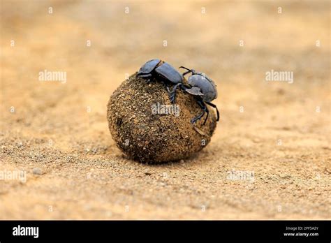
<instances>
[{"instance_id":1,"label":"blurred tan sandy ground surrounding the dung ball","mask_svg":"<svg viewBox=\"0 0 331 243\"><path fill-rule=\"evenodd\" d=\"M0 15L0 219L331 219L330 1L1 0ZM191 159L146 165L115 146L106 105L155 57L213 78L221 121Z\"/></svg>"}]
</instances>

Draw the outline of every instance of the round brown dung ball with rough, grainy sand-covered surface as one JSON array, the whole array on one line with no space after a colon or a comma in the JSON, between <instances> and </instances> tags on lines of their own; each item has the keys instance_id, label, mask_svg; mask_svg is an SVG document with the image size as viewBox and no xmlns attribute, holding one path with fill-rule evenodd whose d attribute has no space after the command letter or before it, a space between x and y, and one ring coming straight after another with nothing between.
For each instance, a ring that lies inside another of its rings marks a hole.
<instances>
[{"instance_id":1,"label":"round brown dung ball with rough, grainy sand-covered surface","mask_svg":"<svg viewBox=\"0 0 331 243\"><path fill-rule=\"evenodd\" d=\"M177 89L175 104L171 104L160 80L147 82L131 75L110 96L107 117L112 138L124 154L159 163L184 159L210 142L216 128L212 108L205 126L205 115L196 124L190 123L201 112L191 94Z\"/></svg>"}]
</instances>

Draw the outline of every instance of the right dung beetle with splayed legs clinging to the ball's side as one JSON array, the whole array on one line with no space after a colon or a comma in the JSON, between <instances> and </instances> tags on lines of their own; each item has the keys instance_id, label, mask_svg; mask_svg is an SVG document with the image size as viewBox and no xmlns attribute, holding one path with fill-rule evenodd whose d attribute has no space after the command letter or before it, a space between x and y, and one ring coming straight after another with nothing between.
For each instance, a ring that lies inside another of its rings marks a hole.
<instances>
[{"instance_id":1,"label":"right dung beetle with splayed legs clinging to the ball's side","mask_svg":"<svg viewBox=\"0 0 331 243\"><path fill-rule=\"evenodd\" d=\"M219 121L219 110L217 109L216 105L213 103L210 103L215 98L217 98L217 90L216 90L216 84L211 78L208 78L205 73L196 72L193 69L185 68L184 66L180 66L179 68L184 68L187 71L183 73L182 75L186 75L188 73L192 73L192 75L187 80L189 84L183 84L178 83L173 87L172 91L170 92L170 101L172 103L175 102L175 96L176 96L176 89L177 87L181 88L182 90L186 91L189 94L192 94L196 97L196 103L200 106L201 110L203 112L191 119L191 124L195 123L196 121L200 120L205 113L207 113L207 116L205 118L205 121L203 122L203 125L205 125L209 110L207 109L207 106L205 104L208 104L216 109L217 113L217 119L216 121Z\"/></svg>"}]
</instances>

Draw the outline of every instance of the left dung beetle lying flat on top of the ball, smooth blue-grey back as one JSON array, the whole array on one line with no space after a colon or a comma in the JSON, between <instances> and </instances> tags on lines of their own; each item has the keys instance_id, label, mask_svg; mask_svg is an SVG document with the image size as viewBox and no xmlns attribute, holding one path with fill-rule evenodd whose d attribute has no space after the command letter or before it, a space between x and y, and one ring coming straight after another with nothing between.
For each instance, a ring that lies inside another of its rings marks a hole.
<instances>
[{"instance_id":1,"label":"left dung beetle lying flat on top of the ball, smooth blue-grey back","mask_svg":"<svg viewBox=\"0 0 331 243\"><path fill-rule=\"evenodd\" d=\"M182 74L180 74L170 64L160 59L152 59L147 61L144 65L142 65L137 75L142 78L152 78L153 75L156 75L162 78L162 80L170 81L173 84L183 82Z\"/></svg>"}]
</instances>

